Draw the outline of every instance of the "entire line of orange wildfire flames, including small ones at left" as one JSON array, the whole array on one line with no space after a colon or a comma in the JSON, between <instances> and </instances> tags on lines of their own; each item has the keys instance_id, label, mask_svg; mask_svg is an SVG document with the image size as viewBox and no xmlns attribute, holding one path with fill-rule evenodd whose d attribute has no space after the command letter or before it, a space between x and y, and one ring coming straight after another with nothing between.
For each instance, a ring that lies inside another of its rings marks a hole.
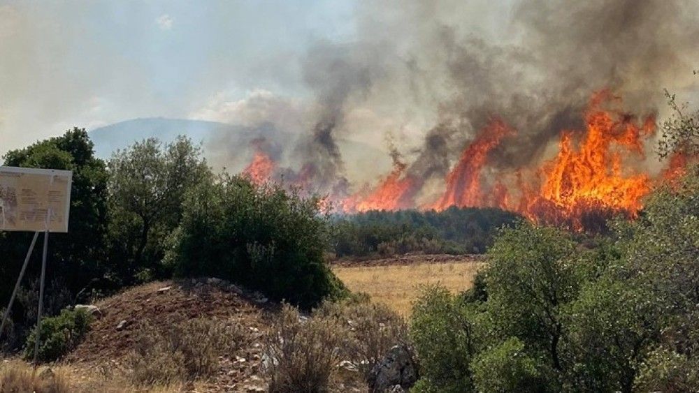
<instances>
[{"instance_id":1,"label":"entire line of orange wildfire flames, including small ones at left","mask_svg":"<svg viewBox=\"0 0 699 393\"><path fill-rule=\"evenodd\" d=\"M536 223L572 230L596 230L614 214L636 216L654 185L654 179L637 164L644 159L644 142L654 135L656 121L653 116L639 121L632 114L609 109L619 103L621 98L610 91L593 94L584 113L584 130L562 131L558 153L538 168L510 172L496 170L489 160L493 149L515 131L503 119L492 119L463 149L445 178L444 193L422 208L499 207ZM684 154L675 154L661 177L677 179L688 162ZM259 184L276 169L258 147L244 173ZM293 183L306 185L312 172L310 167L301 168ZM339 199L333 193L331 198L340 201L343 212L412 209L425 181L410 175L408 165L394 157L394 169L375 188Z\"/></svg>"}]
</instances>

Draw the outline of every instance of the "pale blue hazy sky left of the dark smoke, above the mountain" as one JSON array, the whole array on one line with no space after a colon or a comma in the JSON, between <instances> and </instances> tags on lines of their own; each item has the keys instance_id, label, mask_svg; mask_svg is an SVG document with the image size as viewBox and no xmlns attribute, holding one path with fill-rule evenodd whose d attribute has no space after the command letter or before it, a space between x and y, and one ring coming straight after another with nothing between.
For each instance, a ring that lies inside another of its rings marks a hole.
<instances>
[{"instance_id":1,"label":"pale blue hazy sky left of the dark smoke, above the mountain","mask_svg":"<svg viewBox=\"0 0 699 393\"><path fill-rule=\"evenodd\" d=\"M308 94L298 58L355 34L339 1L0 1L0 151L66 128Z\"/></svg>"}]
</instances>

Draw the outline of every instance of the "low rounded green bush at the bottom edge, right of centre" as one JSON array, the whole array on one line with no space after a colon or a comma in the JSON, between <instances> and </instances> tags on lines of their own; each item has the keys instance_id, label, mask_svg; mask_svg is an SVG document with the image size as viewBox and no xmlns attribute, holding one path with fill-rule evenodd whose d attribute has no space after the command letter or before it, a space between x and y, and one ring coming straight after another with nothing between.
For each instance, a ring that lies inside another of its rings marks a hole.
<instances>
[{"instance_id":1,"label":"low rounded green bush at the bottom edge, right of centre","mask_svg":"<svg viewBox=\"0 0 699 393\"><path fill-rule=\"evenodd\" d=\"M471 363L477 392L547 392L539 362L524 350L524 343L510 337L484 350Z\"/></svg>"}]
</instances>

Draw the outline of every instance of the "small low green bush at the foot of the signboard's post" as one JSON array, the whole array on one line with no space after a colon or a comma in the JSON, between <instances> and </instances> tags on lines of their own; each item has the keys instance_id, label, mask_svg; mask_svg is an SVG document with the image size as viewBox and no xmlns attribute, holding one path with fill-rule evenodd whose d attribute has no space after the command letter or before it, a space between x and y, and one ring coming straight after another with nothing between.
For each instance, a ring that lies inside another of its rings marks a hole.
<instances>
[{"instance_id":1,"label":"small low green bush at the foot of the signboard's post","mask_svg":"<svg viewBox=\"0 0 699 393\"><path fill-rule=\"evenodd\" d=\"M41 320L41 341L37 359L52 362L73 350L89 331L92 318L85 310L64 309L58 316ZM36 331L31 332L24 345L24 357L34 357Z\"/></svg>"}]
</instances>

